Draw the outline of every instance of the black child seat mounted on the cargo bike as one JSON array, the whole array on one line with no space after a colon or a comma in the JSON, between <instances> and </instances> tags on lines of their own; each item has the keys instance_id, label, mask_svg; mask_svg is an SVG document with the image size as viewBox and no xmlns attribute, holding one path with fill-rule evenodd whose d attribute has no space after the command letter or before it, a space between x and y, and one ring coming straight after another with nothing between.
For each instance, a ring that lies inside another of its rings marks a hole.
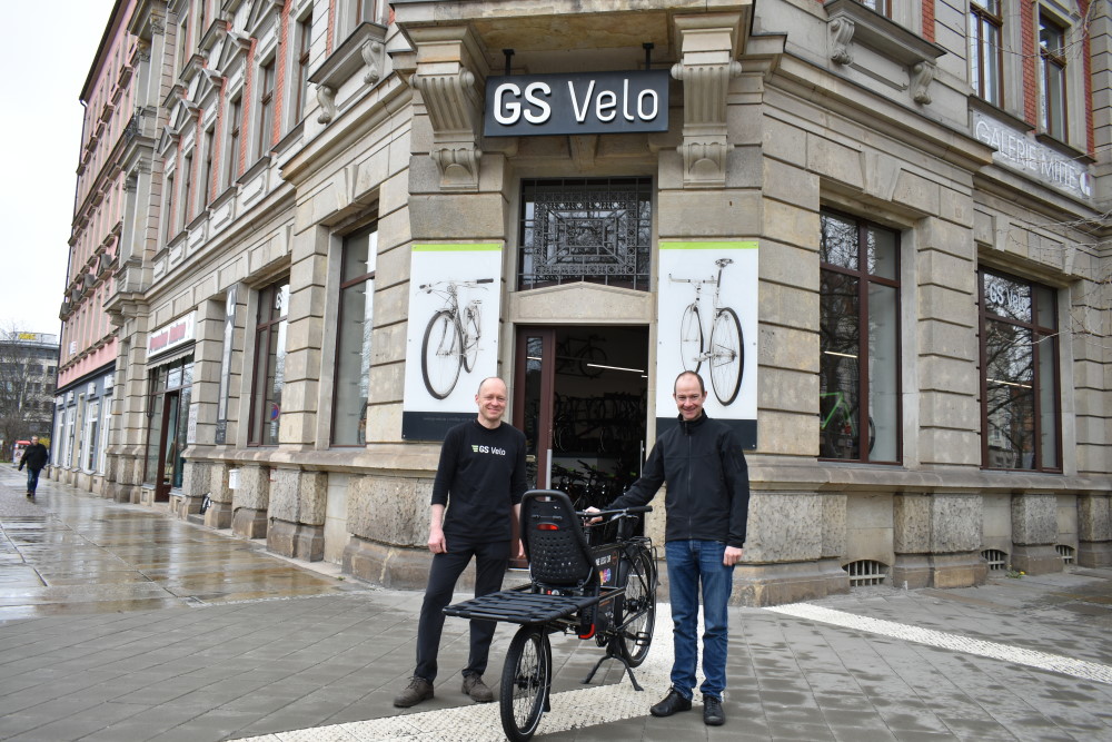
<instances>
[{"instance_id":1,"label":"black child seat mounted on the cargo bike","mask_svg":"<svg viewBox=\"0 0 1112 742\"><path fill-rule=\"evenodd\" d=\"M533 582L582 591L598 585L590 547L570 498L555 489L530 489L522 498L522 543Z\"/></svg>"}]
</instances>

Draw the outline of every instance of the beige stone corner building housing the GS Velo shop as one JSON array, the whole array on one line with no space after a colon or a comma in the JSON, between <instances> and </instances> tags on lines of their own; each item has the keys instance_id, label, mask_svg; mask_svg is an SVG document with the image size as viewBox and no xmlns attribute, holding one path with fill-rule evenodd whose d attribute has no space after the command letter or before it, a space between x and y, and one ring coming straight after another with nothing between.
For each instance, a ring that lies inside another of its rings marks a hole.
<instances>
[{"instance_id":1,"label":"beige stone corner building housing the GS Velo shop","mask_svg":"<svg viewBox=\"0 0 1112 742\"><path fill-rule=\"evenodd\" d=\"M1112 564L1112 18L1019 4L139 1L110 494L419 586L480 378L613 492L691 367L736 601Z\"/></svg>"}]
</instances>

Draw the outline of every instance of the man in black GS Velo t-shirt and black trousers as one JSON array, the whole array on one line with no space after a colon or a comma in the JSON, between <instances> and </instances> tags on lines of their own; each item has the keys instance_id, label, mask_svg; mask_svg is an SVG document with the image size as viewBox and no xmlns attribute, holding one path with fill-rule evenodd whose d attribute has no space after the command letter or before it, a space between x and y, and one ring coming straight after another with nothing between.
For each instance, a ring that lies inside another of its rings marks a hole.
<instances>
[{"instance_id":1,"label":"man in black GS Velo t-shirt and black trousers","mask_svg":"<svg viewBox=\"0 0 1112 742\"><path fill-rule=\"evenodd\" d=\"M448 431L440 448L428 527L433 565L417 625L417 669L394 699L394 705L403 709L433 698L444 609L471 556L476 597L502 590L509 564L510 517L520 516L526 489L525 435L502 422L506 383L500 378L483 379L475 402L478 417ZM483 673L495 626L493 621L470 623L463 692L479 703L494 700Z\"/></svg>"}]
</instances>

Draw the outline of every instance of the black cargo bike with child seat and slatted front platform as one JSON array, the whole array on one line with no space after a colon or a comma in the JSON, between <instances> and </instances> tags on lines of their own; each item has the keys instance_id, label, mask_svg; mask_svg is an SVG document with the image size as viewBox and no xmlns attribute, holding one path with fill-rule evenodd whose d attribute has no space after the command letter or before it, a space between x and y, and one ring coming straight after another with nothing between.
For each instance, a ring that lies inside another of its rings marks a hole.
<instances>
[{"instance_id":1,"label":"black cargo bike with child seat and slatted front platform","mask_svg":"<svg viewBox=\"0 0 1112 742\"><path fill-rule=\"evenodd\" d=\"M653 543L637 534L649 506L577 512L563 492L533 489L522 499L522 542L529 583L449 605L445 614L520 624L506 653L499 705L502 726L525 742L549 711L549 635L575 634L606 650L584 679L617 660L641 691L633 667L648 655L656 623L657 572ZM600 517L590 524L588 521Z\"/></svg>"}]
</instances>

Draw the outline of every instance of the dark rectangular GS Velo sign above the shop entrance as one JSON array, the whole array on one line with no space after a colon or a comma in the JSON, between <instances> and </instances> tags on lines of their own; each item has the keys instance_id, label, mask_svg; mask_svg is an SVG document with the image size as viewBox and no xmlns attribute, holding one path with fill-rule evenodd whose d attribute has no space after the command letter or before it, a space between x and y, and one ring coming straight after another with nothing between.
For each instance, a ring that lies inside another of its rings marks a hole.
<instances>
[{"instance_id":1,"label":"dark rectangular GS Velo sign above the shop entrance","mask_svg":"<svg viewBox=\"0 0 1112 742\"><path fill-rule=\"evenodd\" d=\"M487 137L667 130L667 70L487 78Z\"/></svg>"}]
</instances>

